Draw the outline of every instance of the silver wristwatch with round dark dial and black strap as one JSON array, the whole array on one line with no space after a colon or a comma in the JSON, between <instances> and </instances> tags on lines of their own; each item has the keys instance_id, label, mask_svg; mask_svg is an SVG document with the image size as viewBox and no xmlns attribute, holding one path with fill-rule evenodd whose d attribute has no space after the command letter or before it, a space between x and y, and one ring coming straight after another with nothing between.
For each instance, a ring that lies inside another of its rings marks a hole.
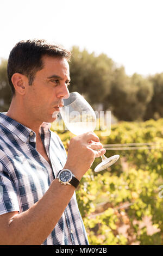
<instances>
[{"instance_id":1,"label":"silver wristwatch with round dark dial and black strap","mask_svg":"<svg viewBox=\"0 0 163 256\"><path fill-rule=\"evenodd\" d=\"M57 174L57 178L59 179L59 182L64 185L72 185L75 188L78 187L80 181L74 176L74 174L71 172L71 170L68 169L62 169Z\"/></svg>"}]
</instances>

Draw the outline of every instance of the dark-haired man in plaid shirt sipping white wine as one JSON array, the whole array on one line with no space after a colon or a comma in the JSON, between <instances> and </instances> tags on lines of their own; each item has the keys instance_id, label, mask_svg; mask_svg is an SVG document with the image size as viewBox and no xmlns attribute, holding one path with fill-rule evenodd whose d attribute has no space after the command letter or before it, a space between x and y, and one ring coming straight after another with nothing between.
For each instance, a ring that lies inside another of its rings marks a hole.
<instances>
[{"instance_id":1,"label":"dark-haired man in plaid shirt sipping white wine","mask_svg":"<svg viewBox=\"0 0 163 256\"><path fill-rule=\"evenodd\" d=\"M88 244L74 191L105 149L87 132L71 139L66 155L49 130L69 96L70 55L44 40L18 42L10 53L12 101L0 113L1 245ZM67 185L65 169L74 175Z\"/></svg>"}]
</instances>

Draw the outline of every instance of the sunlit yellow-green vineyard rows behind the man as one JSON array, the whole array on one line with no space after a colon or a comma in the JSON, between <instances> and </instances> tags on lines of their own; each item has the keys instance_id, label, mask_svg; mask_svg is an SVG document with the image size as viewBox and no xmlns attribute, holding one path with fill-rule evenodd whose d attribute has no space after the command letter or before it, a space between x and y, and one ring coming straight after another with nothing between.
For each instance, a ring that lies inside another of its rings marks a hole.
<instances>
[{"instance_id":1,"label":"sunlit yellow-green vineyard rows behind the man","mask_svg":"<svg viewBox=\"0 0 163 256\"><path fill-rule=\"evenodd\" d=\"M114 124L108 137L95 131L103 145L146 146L110 148L105 155L119 154L120 159L95 173L99 157L82 178L76 194L90 245L163 245L162 127L163 119L151 119ZM72 133L58 135L67 149Z\"/></svg>"}]
</instances>

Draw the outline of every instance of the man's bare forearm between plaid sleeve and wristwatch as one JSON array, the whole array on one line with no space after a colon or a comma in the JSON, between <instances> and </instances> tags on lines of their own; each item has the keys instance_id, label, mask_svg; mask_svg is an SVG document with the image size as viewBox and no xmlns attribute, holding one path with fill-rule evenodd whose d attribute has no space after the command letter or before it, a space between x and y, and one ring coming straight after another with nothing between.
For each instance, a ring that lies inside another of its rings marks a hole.
<instances>
[{"instance_id":1,"label":"man's bare forearm between plaid sleeve and wristwatch","mask_svg":"<svg viewBox=\"0 0 163 256\"><path fill-rule=\"evenodd\" d=\"M10 245L41 245L59 221L74 189L70 185L61 185L58 179L54 180L32 208L10 220L6 242Z\"/></svg>"}]
</instances>

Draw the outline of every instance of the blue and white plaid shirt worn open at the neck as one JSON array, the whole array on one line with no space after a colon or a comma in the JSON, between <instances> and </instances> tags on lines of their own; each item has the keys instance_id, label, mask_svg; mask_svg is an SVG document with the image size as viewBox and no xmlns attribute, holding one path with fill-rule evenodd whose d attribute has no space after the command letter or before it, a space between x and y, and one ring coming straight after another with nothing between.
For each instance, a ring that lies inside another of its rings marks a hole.
<instances>
[{"instance_id":1,"label":"blue and white plaid shirt worn open at the neck","mask_svg":"<svg viewBox=\"0 0 163 256\"><path fill-rule=\"evenodd\" d=\"M67 155L59 136L48 123L40 136L52 166L37 152L35 132L0 113L0 215L32 207L63 169ZM75 193L42 245L88 245Z\"/></svg>"}]
</instances>

